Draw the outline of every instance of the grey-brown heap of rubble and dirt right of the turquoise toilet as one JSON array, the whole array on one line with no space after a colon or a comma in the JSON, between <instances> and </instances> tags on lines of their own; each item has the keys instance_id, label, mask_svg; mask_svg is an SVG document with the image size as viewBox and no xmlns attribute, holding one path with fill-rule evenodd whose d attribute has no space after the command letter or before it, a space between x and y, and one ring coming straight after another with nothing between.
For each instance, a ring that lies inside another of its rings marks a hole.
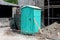
<instances>
[{"instance_id":1,"label":"grey-brown heap of rubble and dirt right of the turquoise toilet","mask_svg":"<svg viewBox=\"0 0 60 40\"><path fill-rule=\"evenodd\" d=\"M60 24L56 22L43 28L42 32L37 35L42 40L60 40Z\"/></svg>"}]
</instances>

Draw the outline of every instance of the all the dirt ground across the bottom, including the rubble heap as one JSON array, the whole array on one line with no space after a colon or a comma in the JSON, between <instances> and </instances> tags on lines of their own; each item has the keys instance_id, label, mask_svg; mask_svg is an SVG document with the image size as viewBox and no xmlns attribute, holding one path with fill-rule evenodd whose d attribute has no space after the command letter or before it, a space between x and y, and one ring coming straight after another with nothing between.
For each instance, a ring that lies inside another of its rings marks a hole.
<instances>
[{"instance_id":1,"label":"all the dirt ground across the bottom, including the rubble heap","mask_svg":"<svg viewBox=\"0 0 60 40\"><path fill-rule=\"evenodd\" d=\"M53 23L42 28L42 34L23 35L12 32L10 27L0 28L0 40L60 40L60 24Z\"/></svg>"}]
</instances>

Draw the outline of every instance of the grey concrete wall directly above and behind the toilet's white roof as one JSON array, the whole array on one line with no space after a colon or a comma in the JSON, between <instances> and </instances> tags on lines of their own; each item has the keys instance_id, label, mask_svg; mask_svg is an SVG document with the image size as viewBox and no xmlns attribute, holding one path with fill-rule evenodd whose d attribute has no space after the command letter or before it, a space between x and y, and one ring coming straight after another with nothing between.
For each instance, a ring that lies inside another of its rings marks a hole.
<instances>
[{"instance_id":1,"label":"grey concrete wall directly above and behind the toilet's white roof","mask_svg":"<svg viewBox=\"0 0 60 40\"><path fill-rule=\"evenodd\" d=\"M36 5L42 9L44 9L44 0L18 0L18 5Z\"/></svg>"}]
</instances>

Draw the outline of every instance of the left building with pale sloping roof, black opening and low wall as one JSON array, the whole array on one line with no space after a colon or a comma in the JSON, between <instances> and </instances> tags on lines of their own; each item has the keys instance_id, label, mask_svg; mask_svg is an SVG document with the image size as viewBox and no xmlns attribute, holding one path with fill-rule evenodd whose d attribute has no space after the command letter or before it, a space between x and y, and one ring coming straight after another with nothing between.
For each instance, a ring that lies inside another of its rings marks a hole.
<instances>
[{"instance_id":1,"label":"left building with pale sloping roof, black opening and low wall","mask_svg":"<svg viewBox=\"0 0 60 40\"><path fill-rule=\"evenodd\" d=\"M0 0L0 26L9 25L9 18L13 17L13 8L18 7L16 4Z\"/></svg>"}]
</instances>

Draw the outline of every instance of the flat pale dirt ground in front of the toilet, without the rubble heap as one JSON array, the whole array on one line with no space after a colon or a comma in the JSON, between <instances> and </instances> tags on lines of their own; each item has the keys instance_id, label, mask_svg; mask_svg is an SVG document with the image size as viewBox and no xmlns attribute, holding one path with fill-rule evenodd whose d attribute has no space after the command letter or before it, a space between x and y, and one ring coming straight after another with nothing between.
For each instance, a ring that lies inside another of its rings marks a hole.
<instances>
[{"instance_id":1,"label":"flat pale dirt ground in front of the toilet, without the rubble heap","mask_svg":"<svg viewBox=\"0 0 60 40\"><path fill-rule=\"evenodd\" d=\"M38 40L35 36L28 36L12 32L9 27L0 28L0 40Z\"/></svg>"}]
</instances>

